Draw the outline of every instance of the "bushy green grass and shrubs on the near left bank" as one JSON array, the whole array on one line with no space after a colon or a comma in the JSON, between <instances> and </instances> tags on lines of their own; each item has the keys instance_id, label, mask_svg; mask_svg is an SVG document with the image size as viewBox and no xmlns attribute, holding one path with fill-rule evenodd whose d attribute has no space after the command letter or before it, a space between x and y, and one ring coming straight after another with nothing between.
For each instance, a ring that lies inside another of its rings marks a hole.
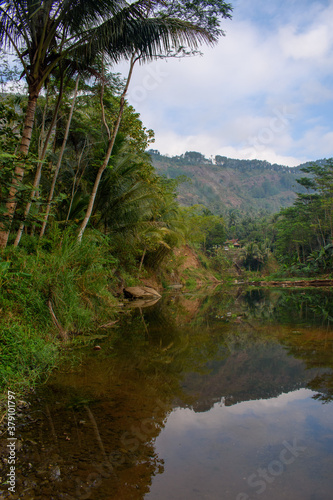
<instances>
[{"instance_id":1,"label":"bushy green grass and shrubs on the near left bank","mask_svg":"<svg viewBox=\"0 0 333 500\"><path fill-rule=\"evenodd\" d=\"M59 334L93 332L114 318L117 259L109 242L87 233L81 244L54 229L0 257L0 392L44 379L61 356ZM51 314L53 311L53 317Z\"/></svg>"}]
</instances>

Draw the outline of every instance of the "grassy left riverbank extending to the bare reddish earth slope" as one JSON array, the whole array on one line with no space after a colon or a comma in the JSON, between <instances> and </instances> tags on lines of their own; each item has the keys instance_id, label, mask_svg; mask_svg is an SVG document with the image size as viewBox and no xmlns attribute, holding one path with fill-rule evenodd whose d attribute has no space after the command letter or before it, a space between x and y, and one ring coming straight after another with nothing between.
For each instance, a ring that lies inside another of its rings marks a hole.
<instances>
[{"instance_id":1,"label":"grassy left riverbank extending to the bare reddish earth slope","mask_svg":"<svg viewBox=\"0 0 333 500\"><path fill-rule=\"evenodd\" d=\"M9 247L0 258L2 399L7 390L24 394L45 380L69 346L93 343L96 331L117 319L125 287L147 285L161 293L211 282L219 280L189 246L140 275L96 233L80 245L56 234L44 246Z\"/></svg>"}]
</instances>

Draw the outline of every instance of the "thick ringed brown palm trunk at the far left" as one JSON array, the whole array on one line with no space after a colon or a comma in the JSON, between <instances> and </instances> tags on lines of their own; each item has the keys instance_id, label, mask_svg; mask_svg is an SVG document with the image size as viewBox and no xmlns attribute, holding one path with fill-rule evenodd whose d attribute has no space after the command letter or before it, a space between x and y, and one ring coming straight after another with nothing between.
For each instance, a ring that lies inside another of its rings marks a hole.
<instances>
[{"instance_id":1,"label":"thick ringed brown palm trunk at the far left","mask_svg":"<svg viewBox=\"0 0 333 500\"><path fill-rule=\"evenodd\" d=\"M31 142L32 129L35 119L36 105L39 92L34 88L29 89L29 99L28 108L25 115L23 133L20 144L20 154L22 156L22 161L16 165L12 180L12 185L9 190L8 202L6 204L8 218L7 224L0 224L0 248L6 248L10 233L10 226L14 218L16 209L16 194L19 189L19 185L23 180L25 171L24 157L27 156L29 151L29 146Z\"/></svg>"}]
</instances>

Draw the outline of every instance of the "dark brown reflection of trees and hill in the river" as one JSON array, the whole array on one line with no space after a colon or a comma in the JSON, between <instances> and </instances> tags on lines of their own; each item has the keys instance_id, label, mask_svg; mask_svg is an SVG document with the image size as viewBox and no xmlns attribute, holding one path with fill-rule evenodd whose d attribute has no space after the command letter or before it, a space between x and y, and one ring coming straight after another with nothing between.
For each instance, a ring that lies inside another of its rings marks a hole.
<instances>
[{"instance_id":1,"label":"dark brown reflection of trees and hill in the river","mask_svg":"<svg viewBox=\"0 0 333 500\"><path fill-rule=\"evenodd\" d=\"M22 427L22 499L32 491L83 498L89 480L89 498L143 498L162 471L153 441L175 398L206 410L221 396L231 404L307 384L318 400L333 400L332 333L305 328L310 320L322 324L321 311L329 319L330 298L316 290L230 288L199 298L169 294L153 308L125 313L80 372L55 374L47 392L36 395L38 428L28 421ZM56 467L61 476L53 481ZM75 479L81 497L73 493Z\"/></svg>"}]
</instances>

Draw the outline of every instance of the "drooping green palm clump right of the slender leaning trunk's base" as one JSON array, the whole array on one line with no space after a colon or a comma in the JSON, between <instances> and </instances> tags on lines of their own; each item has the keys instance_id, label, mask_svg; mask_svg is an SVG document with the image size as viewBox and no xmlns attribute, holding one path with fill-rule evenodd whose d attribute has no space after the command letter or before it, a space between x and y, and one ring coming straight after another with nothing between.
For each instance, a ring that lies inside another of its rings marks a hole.
<instances>
[{"instance_id":1,"label":"drooping green palm clump right of the slender leaning trunk's base","mask_svg":"<svg viewBox=\"0 0 333 500\"><path fill-rule=\"evenodd\" d=\"M146 153L133 151L118 134L111 168L101 180L92 212L95 228L112 234L118 247L140 255L140 275L146 254L150 265L160 262L184 242L185 227L173 193L173 183L156 175Z\"/></svg>"}]
</instances>

